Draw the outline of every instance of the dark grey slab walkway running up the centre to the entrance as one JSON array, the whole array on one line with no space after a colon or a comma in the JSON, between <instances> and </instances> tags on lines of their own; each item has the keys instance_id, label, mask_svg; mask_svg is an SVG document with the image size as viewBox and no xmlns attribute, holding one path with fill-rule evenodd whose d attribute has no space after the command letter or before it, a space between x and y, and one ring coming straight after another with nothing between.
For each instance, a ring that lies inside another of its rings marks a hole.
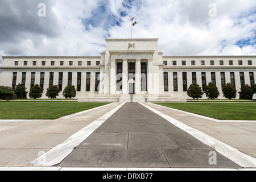
<instances>
[{"instance_id":1,"label":"dark grey slab walkway running up the centre to the entrance","mask_svg":"<svg viewBox=\"0 0 256 182\"><path fill-rule=\"evenodd\" d=\"M123 105L58 166L241 168L138 103Z\"/></svg>"}]
</instances>

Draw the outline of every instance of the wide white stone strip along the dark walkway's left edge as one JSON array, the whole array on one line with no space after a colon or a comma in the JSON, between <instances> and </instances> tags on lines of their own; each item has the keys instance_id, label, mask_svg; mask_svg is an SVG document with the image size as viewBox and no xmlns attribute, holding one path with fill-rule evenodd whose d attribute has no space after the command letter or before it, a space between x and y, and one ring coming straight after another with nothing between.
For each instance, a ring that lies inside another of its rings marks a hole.
<instances>
[{"instance_id":1,"label":"wide white stone strip along the dark walkway's left edge","mask_svg":"<svg viewBox=\"0 0 256 182\"><path fill-rule=\"evenodd\" d=\"M75 147L79 146L86 138L88 138L98 127L110 118L118 109L120 109L125 103L115 107L115 109L109 111L102 117L98 118L90 125L86 126L84 129L80 130L76 134L72 135L70 138L65 140L63 143L49 150L46 154L40 156L38 159L34 160L30 164L32 166L55 166L61 163Z\"/></svg>"}]
</instances>

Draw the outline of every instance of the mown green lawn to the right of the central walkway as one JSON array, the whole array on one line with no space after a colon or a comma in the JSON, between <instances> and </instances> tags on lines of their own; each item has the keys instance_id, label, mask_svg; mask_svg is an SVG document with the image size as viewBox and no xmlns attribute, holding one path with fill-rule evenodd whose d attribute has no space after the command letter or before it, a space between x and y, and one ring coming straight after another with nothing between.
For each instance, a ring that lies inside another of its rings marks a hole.
<instances>
[{"instance_id":1,"label":"mown green lawn to the right of the central walkway","mask_svg":"<svg viewBox=\"0 0 256 182\"><path fill-rule=\"evenodd\" d=\"M155 103L220 120L256 121L255 103Z\"/></svg>"}]
</instances>

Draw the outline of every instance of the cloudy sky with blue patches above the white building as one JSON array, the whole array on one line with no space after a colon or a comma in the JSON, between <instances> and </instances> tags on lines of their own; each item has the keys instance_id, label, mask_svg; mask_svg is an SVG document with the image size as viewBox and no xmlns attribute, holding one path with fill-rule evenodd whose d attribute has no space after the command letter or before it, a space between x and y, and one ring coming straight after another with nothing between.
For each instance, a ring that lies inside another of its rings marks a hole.
<instances>
[{"instance_id":1,"label":"cloudy sky with blue patches above the white building","mask_svg":"<svg viewBox=\"0 0 256 182\"><path fill-rule=\"evenodd\" d=\"M133 16L164 55L256 55L255 0L0 0L0 55L100 56Z\"/></svg>"}]
</instances>

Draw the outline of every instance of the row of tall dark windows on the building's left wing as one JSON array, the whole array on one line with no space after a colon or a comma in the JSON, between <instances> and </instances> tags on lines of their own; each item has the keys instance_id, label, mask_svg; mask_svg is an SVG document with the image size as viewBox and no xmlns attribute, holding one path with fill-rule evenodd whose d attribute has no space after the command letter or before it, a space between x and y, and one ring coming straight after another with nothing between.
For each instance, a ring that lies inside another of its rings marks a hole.
<instances>
[{"instance_id":1,"label":"row of tall dark windows on the building's left wing","mask_svg":"<svg viewBox=\"0 0 256 182\"><path fill-rule=\"evenodd\" d=\"M35 74L36 74L35 72L31 73L30 88L35 85ZM100 73L95 73L95 74L96 74L95 92L98 92L99 85L100 85ZM53 85L53 78L55 76L59 76L58 86L59 86L60 91L62 91L63 90L63 72L49 73L49 85L47 85L47 86ZM22 73L22 82L21 82L21 84L23 86L26 85L26 77L27 77L27 73L23 72ZM68 85L72 85L72 77L73 77L73 73L69 72L68 73ZM40 83L39 83L41 88L45 87L44 80L45 80L45 73L41 72L40 73ZM12 83L13 90L15 90L16 85L18 85L18 84L17 84L17 73L14 72L13 73L13 83ZM76 84L77 84L76 85L77 92L81 92L81 84L82 84L82 73L81 72L77 73L77 83ZM86 92L90 92L90 89L91 89L91 73L86 73Z\"/></svg>"}]
</instances>

